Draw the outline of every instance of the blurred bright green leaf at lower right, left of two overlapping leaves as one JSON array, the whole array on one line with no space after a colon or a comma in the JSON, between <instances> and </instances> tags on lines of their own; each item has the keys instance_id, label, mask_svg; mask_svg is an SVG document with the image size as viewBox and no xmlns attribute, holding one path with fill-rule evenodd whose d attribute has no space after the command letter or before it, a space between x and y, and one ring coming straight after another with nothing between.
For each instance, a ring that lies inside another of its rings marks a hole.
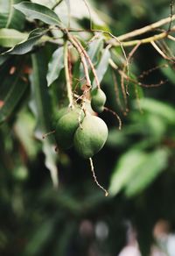
<instances>
[{"instance_id":1,"label":"blurred bright green leaf at lower right, left of two overlapping leaves","mask_svg":"<svg viewBox=\"0 0 175 256\"><path fill-rule=\"evenodd\" d=\"M116 196L116 194L137 174L137 171L142 166L146 159L146 153L139 150L130 150L124 153L118 160L114 173L110 179L109 194Z\"/></svg>"}]
</instances>

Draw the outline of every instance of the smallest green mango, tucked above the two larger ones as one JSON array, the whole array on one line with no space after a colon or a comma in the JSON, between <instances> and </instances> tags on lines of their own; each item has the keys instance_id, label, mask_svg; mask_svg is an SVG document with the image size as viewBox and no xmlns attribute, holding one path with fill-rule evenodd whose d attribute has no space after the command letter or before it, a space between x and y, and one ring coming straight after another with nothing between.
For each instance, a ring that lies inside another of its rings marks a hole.
<instances>
[{"instance_id":1,"label":"smallest green mango, tucked above the two larger ones","mask_svg":"<svg viewBox=\"0 0 175 256\"><path fill-rule=\"evenodd\" d=\"M107 97L102 89L96 88L91 92L91 107L95 112L101 113L104 110L104 104Z\"/></svg>"}]
</instances>

